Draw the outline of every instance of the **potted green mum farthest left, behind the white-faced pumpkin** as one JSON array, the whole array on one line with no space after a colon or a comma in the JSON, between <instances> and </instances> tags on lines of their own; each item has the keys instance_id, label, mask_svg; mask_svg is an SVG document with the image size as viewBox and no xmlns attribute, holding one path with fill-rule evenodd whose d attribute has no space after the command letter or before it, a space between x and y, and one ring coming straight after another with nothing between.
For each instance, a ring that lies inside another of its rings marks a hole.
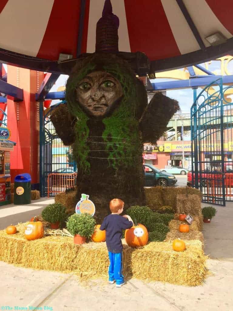
<instances>
[{"instance_id":1,"label":"potted green mum farthest left, behind the white-faced pumpkin","mask_svg":"<svg viewBox=\"0 0 233 311\"><path fill-rule=\"evenodd\" d=\"M53 203L46 206L41 216L44 220L50 222L51 229L58 229L61 222L66 218L66 207L61 203Z\"/></svg>"}]
</instances>

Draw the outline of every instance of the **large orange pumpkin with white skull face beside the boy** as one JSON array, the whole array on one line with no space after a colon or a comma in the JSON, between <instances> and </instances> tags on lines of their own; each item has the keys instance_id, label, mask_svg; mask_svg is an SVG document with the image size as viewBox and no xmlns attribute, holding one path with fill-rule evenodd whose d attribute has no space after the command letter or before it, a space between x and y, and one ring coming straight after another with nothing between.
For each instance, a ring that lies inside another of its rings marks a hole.
<instances>
[{"instance_id":1,"label":"large orange pumpkin with white skull face beside the boy","mask_svg":"<svg viewBox=\"0 0 233 311\"><path fill-rule=\"evenodd\" d=\"M130 247L144 246L148 242L148 231L144 225L134 225L125 232L126 243Z\"/></svg>"}]
</instances>

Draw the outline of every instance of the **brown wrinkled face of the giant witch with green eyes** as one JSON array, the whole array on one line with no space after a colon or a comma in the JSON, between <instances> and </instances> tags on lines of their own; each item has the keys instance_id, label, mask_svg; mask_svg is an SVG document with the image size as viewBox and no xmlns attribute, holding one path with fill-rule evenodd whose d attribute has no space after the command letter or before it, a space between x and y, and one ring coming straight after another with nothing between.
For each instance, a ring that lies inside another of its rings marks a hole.
<instances>
[{"instance_id":1,"label":"brown wrinkled face of the giant witch with green eyes","mask_svg":"<svg viewBox=\"0 0 233 311\"><path fill-rule=\"evenodd\" d=\"M122 95L121 83L104 71L89 73L76 87L77 101L94 117L104 117L112 112Z\"/></svg>"}]
</instances>

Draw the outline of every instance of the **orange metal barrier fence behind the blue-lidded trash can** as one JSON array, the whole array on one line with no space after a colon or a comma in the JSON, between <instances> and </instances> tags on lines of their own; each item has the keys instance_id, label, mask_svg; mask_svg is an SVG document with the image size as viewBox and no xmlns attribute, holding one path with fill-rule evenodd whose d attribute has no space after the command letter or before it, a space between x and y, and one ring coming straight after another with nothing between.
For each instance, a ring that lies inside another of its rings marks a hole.
<instances>
[{"instance_id":1,"label":"orange metal barrier fence behind the blue-lidded trash can","mask_svg":"<svg viewBox=\"0 0 233 311\"><path fill-rule=\"evenodd\" d=\"M77 173L48 175L48 197L51 193L64 192L66 188L72 188L76 185Z\"/></svg>"}]
</instances>

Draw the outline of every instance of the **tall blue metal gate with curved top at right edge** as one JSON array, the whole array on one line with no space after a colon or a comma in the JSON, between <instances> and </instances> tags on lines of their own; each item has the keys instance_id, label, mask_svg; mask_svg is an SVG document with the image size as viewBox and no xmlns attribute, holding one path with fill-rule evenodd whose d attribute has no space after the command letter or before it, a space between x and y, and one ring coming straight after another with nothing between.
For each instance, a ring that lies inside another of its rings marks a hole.
<instances>
[{"instance_id":1,"label":"tall blue metal gate with curved top at right edge","mask_svg":"<svg viewBox=\"0 0 233 311\"><path fill-rule=\"evenodd\" d=\"M192 186L203 202L225 206L233 197L233 104L222 77L206 86L191 107ZM232 91L232 90L231 90Z\"/></svg>"}]
</instances>

